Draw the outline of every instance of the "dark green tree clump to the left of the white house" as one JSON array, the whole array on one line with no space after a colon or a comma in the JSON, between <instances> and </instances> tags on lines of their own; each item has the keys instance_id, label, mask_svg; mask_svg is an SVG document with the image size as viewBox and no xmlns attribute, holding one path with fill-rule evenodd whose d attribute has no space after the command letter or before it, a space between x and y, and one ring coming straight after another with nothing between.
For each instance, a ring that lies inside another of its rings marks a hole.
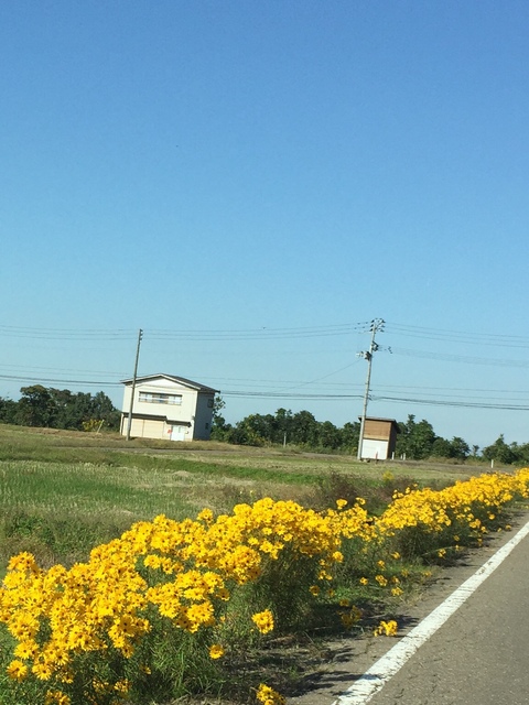
<instances>
[{"instance_id":1,"label":"dark green tree clump to the left of the white house","mask_svg":"<svg viewBox=\"0 0 529 705\"><path fill-rule=\"evenodd\" d=\"M89 394L42 384L22 387L19 401L0 397L0 423L43 429L117 431L120 412L104 392Z\"/></svg>"}]
</instances>

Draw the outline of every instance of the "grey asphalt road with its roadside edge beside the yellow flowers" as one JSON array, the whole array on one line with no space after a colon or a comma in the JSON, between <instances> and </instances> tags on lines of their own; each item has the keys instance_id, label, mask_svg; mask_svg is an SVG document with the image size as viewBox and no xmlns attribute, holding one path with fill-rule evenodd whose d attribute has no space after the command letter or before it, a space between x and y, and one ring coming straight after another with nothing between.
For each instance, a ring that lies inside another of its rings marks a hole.
<instances>
[{"instance_id":1,"label":"grey asphalt road with its roadside edge beside the yellow flowers","mask_svg":"<svg viewBox=\"0 0 529 705\"><path fill-rule=\"evenodd\" d=\"M528 520L528 516L521 518L515 532ZM432 594L411 610L406 640L379 638L336 646L334 659L312 688L290 704L529 705L529 535L486 579L487 564L481 568L488 561L499 561L498 550L506 551L511 540L514 533L504 534L474 553L465 566L447 571ZM477 587L476 579L483 581ZM427 625L439 621L436 615L455 603L453 614L430 634ZM421 630L427 633L422 646L402 658L407 641ZM399 650L400 657L393 655Z\"/></svg>"}]
</instances>

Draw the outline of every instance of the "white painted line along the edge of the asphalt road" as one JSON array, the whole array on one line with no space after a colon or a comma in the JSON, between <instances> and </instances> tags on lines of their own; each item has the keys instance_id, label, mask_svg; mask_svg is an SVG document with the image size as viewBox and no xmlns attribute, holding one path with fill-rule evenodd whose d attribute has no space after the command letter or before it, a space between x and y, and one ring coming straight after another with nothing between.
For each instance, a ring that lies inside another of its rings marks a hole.
<instances>
[{"instance_id":1,"label":"white painted line along the edge of the asphalt road","mask_svg":"<svg viewBox=\"0 0 529 705\"><path fill-rule=\"evenodd\" d=\"M444 603L430 612L417 627L371 665L355 683L348 687L333 705L365 705L378 693L415 651L451 617L468 597L494 573L515 546L529 533L529 521L512 539L478 568L474 575L450 595Z\"/></svg>"}]
</instances>

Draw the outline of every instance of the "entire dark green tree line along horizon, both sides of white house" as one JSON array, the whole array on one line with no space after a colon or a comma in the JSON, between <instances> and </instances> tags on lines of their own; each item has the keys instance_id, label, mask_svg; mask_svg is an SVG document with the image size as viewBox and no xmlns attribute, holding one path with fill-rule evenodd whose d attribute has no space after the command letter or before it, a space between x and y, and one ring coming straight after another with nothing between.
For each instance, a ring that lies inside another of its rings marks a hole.
<instances>
[{"instance_id":1,"label":"entire dark green tree line along horizon, both sides of white house","mask_svg":"<svg viewBox=\"0 0 529 705\"><path fill-rule=\"evenodd\" d=\"M19 401L0 397L0 423L48 429L118 431L120 412L104 393L71 392L33 384L22 387ZM313 452L342 452L356 454L360 423L347 422L342 427L331 421L316 421L310 411L293 413L278 409L274 414L250 414L235 424L223 416L225 402L215 399L212 440L236 445L290 445ZM464 462L469 457L496 460L504 465L529 465L529 443L506 443L501 434L492 445L479 452L464 438L439 436L427 420L415 421L410 414L398 422L396 457L411 460L450 458Z\"/></svg>"}]
</instances>

